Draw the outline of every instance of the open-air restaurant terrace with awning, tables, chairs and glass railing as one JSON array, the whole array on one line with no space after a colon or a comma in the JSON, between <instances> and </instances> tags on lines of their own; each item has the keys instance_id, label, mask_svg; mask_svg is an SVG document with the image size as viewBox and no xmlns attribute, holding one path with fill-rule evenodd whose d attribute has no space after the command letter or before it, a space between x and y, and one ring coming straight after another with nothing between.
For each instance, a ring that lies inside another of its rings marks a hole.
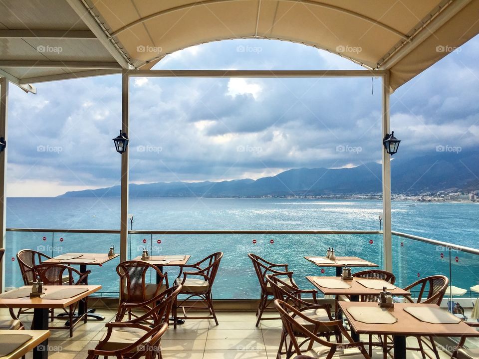
<instances>
[{"instance_id":1,"label":"open-air restaurant terrace with awning, tables, chairs and glass railing","mask_svg":"<svg viewBox=\"0 0 479 359\"><path fill-rule=\"evenodd\" d=\"M389 111L391 93L479 33L478 14L479 0L1 1L0 358L479 358L479 250L392 228L399 142ZM364 69L153 69L175 51L239 38L301 43ZM33 96L44 82L110 74L122 76L118 227L7 228L9 86ZM382 229L132 230L132 77L381 79ZM179 246L187 236L216 240ZM79 246L92 238L113 245L103 253ZM224 238L247 243L246 273L222 274L238 256ZM304 238L317 243L314 252ZM327 251L353 238L375 245L360 257ZM53 255L59 241L63 251ZM304 266L288 266L285 245ZM415 281L413 250L436 258ZM114 283L95 274L100 267ZM455 278L467 276L465 293ZM250 290L232 297L226 285Z\"/></svg>"}]
</instances>

